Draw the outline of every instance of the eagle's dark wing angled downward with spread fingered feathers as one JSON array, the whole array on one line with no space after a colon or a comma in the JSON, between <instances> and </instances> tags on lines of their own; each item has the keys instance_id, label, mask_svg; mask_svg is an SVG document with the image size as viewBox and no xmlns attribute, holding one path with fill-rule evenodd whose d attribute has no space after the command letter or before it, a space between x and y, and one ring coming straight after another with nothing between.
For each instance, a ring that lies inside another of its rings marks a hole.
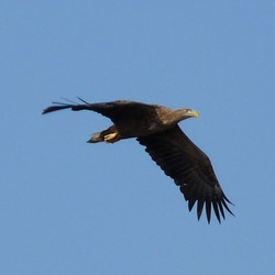
<instances>
[{"instance_id":1,"label":"eagle's dark wing angled downward with spread fingered feathers","mask_svg":"<svg viewBox=\"0 0 275 275\"><path fill-rule=\"evenodd\" d=\"M223 208L232 213L227 205L230 201L219 185L208 156L178 125L157 134L139 138L138 141L146 146L146 152L153 161L179 186L188 200L189 211L197 201L198 219L205 205L208 222L211 219L211 208L219 222L220 216L226 219Z\"/></svg>"}]
</instances>

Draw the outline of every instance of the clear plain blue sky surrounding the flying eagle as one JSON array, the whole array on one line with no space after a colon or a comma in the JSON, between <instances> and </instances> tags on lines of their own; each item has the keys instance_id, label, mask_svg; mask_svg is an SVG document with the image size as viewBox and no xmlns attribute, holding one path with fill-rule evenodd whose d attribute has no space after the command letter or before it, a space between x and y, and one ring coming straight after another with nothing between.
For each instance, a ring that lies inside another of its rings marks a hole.
<instances>
[{"instance_id":1,"label":"clear plain blue sky surrounding the flying eagle","mask_svg":"<svg viewBox=\"0 0 275 275\"><path fill-rule=\"evenodd\" d=\"M0 2L0 274L274 274L275 2ZM234 202L209 226L135 140L62 97L187 107Z\"/></svg>"}]
</instances>

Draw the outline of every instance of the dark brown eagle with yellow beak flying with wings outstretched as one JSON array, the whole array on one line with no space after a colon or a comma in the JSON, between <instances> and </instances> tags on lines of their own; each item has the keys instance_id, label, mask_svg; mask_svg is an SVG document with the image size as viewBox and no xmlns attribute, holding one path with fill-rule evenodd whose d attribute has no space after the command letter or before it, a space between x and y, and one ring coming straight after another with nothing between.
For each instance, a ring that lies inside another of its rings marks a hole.
<instances>
[{"instance_id":1,"label":"dark brown eagle with yellow beak flying with wings outstretched","mask_svg":"<svg viewBox=\"0 0 275 275\"><path fill-rule=\"evenodd\" d=\"M79 103L53 102L43 110L50 113L63 109L73 111L89 110L109 118L113 124L94 133L88 143L116 143L135 138L145 146L152 160L174 179L191 211L197 205L197 218L206 209L208 223L213 210L219 223L226 219L224 209L231 215L228 204L232 202L224 195L213 172L209 157L196 146L182 131L178 123L189 118L198 118L193 109L170 109L158 105L147 105L130 100L89 103L78 98Z\"/></svg>"}]
</instances>

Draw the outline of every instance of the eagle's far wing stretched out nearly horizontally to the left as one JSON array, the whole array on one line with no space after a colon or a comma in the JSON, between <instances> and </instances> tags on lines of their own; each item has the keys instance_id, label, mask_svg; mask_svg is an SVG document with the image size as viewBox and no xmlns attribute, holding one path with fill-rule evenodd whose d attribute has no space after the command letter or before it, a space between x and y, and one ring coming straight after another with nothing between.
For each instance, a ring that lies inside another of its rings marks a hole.
<instances>
[{"instance_id":1,"label":"eagle's far wing stretched out nearly horizontally to the left","mask_svg":"<svg viewBox=\"0 0 275 275\"><path fill-rule=\"evenodd\" d=\"M139 120L139 118L144 114L150 116L155 112L154 106L136 101L117 100L101 103L88 103L80 98L78 99L81 100L80 105L54 102L54 106L46 108L42 113L54 112L63 109L72 109L73 111L89 110L101 113L116 123L121 118L133 117Z\"/></svg>"}]
</instances>

